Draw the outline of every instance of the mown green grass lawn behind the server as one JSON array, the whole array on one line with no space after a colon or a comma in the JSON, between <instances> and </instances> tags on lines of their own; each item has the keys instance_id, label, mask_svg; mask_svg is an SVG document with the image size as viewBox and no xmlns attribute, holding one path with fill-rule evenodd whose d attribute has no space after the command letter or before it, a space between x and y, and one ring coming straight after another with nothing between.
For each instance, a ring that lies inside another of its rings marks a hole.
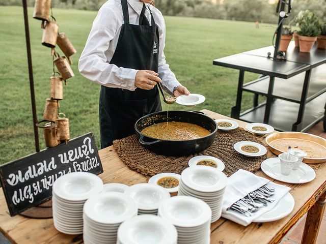
<instances>
[{"instance_id":1,"label":"mown green grass lawn behind the server","mask_svg":"<svg viewBox=\"0 0 326 244\"><path fill-rule=\"evenodd\" d=\"M33 153L33 119L29 76L25 49L25 35L21 7L0 6L0 164ZM49 97L49 77L52 73L50 49L41 45L41 22L29 22L37 116L43 116ZM75 77L64 87L60 112L70 119L71 138L92 131L99 145L98 96L100 86L78 73L78 57L87 40L96 12L53 9L59 31L65 32L77 49L72 56ZM214 58L235 54L271 44L275 26L254 23L166 16L167 62L179 81L192 93L202 94L206 101L196 109L210 109L229 115L235 104L238 71L212 65ZM59 51L59 49L58 49ZM60 51L61 52L61 51ZM247 74L246 80L256 78ZM252 95L243 96L243 109L252 105ZM166 107L164 107L166 108ZM191 110L170 106L173 110ZM41 148L43 131L39 130Z\"/></svg>"}]
</instances>

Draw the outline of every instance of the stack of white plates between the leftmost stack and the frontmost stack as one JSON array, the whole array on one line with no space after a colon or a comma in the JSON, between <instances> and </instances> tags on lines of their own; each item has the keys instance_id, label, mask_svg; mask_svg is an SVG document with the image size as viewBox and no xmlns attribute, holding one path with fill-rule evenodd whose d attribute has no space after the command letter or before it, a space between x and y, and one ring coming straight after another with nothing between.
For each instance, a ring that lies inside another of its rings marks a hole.
<instances>
[{"instance_id":1,"label":"stack of white plates between the leftmost stack and the frontmost stack","mask_svg":"<svg viewBox=\"0 0 326 244\"><path fill-rule=\"evenodd\" d=\"M137 216L137 203L120 192L105 192L88 199L84 205L84 243L117 243L122 222Z\"/></svg>"}]
</instances>

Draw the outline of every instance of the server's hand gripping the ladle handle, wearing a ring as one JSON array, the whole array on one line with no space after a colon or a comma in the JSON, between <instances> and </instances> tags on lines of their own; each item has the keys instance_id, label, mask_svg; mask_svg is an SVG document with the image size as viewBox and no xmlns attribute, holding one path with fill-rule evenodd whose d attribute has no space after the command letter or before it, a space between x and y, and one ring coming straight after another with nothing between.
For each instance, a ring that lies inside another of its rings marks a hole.
<instances>
[{"instance_id":1,"label":"server's hand gripping the ladle handle, wearing a ring","mask_svg":"<svg viewBox=\"0 0 326 244\"><path fill-rule=\"evenodd\" d=\"M156 85L156 82L162 82L158 74L151 70L139 70L134 79L135 87L150 90Z\"/></svg>"}]
</instances>

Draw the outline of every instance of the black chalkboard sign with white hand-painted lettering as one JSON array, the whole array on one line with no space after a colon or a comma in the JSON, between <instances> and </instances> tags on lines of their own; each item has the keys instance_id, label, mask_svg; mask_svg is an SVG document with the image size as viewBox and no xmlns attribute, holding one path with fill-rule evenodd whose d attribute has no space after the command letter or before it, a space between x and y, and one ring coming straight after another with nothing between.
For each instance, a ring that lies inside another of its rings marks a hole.
<instances>
[{"instance_id":1,"label":"black chalkboard sign with white hand-painted lettering","mask_svg":"<svg viewBox=\"0 0 326 244\"><path fill-rule=\"evenodd\" d=\"M103 172L93 133L0 166L11 216L52 196L53 182L71 172Z\"/></svg>"}]
</instances>

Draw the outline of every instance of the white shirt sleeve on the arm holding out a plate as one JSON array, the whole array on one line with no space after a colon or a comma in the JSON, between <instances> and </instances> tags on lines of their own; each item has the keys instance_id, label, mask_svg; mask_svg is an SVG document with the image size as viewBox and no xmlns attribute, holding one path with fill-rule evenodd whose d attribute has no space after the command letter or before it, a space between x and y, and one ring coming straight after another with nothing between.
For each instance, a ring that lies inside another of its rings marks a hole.
<instances>
[{"instance_id":1,"label":"white shirt sleeve on the arm holding out a plate","mask_svg":"<svg viewBox=\"0 0 326 244\"><path fill-rule=\"evenodd\" d=\"M161 23L162 27L159 29L159 52L158 52L158 76L162 80L162 85L166 92L173 95L173 88L181 85L180 82L175 77L175 74L170 70L170 66L167 64L165 55L164 55L164 47L165 47L165 35L166 35L166 27L165 21L162 15Z\"/></svg>"}]
</instances>

